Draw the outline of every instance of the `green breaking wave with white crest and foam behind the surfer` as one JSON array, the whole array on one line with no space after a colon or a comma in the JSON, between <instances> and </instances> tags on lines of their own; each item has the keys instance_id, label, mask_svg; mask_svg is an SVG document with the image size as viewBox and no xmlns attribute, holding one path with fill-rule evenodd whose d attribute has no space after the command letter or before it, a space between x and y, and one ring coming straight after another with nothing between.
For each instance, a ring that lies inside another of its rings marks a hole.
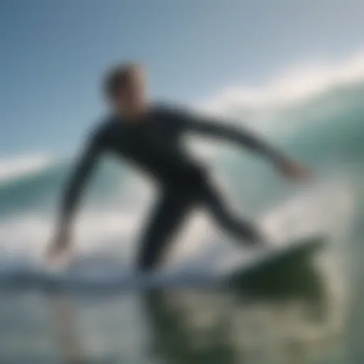
<instances>
[{"instance_id":1,"label":"green breaking wave with white crest and foam behind the surfer","mask_svg":"<svg viewBox=\"0 0 364 364\"><path fill-rule=\"evenodd\" d=\"M235 203L258 218L269 215L262 225L277 241L284 239L287 226L294 225L296 232L325 229L336 240L348 242L351 223L362 220L364 208L356 207L364 206L363 81L364 56L357 55L341 65L285 73L254 90L223 92L206 104L210 111L228 118L248 120L250 127L313 166L321 177L310 188L289 187L249 157L214 149L212 166L223 166L228 174ZM21 276L21 269L41 257L70 168L69 161L44 156L0 162L0 251L4 260L0 267L14 262L14 257L25 257L14 263ZM109 162L99 172L82 204L78 249L81 255L113 252L119 262L117 274L124 274L132 264L135 240L152 193L127 166ZM292 224L294 216L298 223ZM226 244L226 238L218 237L213 225L198 215L183 234L183 244L176 248L171 264L207 256L215 242L226 247L218 259L211 259L215 265L240 256ZM361 238L355 235L354 240ZM197 267L193 266L193 272Z\"/></svg>"}]
</instances>

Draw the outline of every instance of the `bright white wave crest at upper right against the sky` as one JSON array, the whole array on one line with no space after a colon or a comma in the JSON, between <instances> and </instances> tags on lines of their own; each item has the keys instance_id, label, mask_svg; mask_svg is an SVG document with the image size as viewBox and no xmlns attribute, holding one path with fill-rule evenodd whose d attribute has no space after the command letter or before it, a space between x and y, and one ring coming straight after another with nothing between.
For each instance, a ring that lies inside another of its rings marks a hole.
<instances>
[{"instance_id":1,"label":"bright white wave crest at upper right against the sky","mask_svg":"<svg viewBox=\"0 0 364 364\"><path fill-rule=\"evenodd\" d=\"M357 52L345 60L313 61L282 70L262 86L225 87L208 100L198 102L197 106L223 113L235 107L272 110L301 104L336 87L351 87L363 81L364 52Z\"/></svg>"}]
</instances>

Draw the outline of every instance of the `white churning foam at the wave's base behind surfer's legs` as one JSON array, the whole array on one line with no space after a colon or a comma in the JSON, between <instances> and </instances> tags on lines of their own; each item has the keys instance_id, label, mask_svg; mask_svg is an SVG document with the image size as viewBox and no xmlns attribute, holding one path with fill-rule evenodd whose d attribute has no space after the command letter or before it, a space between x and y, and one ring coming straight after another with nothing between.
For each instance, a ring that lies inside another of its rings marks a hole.
<instances>
[{"instance_id":1,"label":"white churning foam at the wave's base behind surfer's legs","mask_svg":"<svg viewBox=\"0 0 364 364\"><path fill-rule=\"evenodd\" d=\"M137 252L140 227L144 225L144 209L144 205L139 205L134 210L83 211L75 229L75 256L109 256L116 261L119 259L123 269L130 267ZM260 222L264 232L276 244L315 232L341 238L350 225L352 212L350 189L336 180L336 183L322 183L283 200L264 213ZM54 224L52 216L32 213L2 220L2 259L25 256L39 262L53 235ZM201 213L191 217L178 240L173 245L167 268L225 269L250 259L249 251L240 254L241 242L234 244Z\"/></svg>"}]
</instances>

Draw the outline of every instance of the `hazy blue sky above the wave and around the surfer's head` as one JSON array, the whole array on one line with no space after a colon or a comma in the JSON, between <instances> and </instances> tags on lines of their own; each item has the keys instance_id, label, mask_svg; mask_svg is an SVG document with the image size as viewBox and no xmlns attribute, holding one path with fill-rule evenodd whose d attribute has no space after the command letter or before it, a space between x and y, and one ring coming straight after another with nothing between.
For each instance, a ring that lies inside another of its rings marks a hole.
<instances>
[{"instance_id":1,"label":"hazy blue sky above the wave and around the surfer's head","mask_svg":"<svg viewBox=\"0 0 364 364\"><path fill-rule=\"evenodd\" d=\"M196 102L363 49L363 18L361 0L2 0L0 156L73 149L119 60L149 68L154 97Z\"/></svg>"}]
</instances>

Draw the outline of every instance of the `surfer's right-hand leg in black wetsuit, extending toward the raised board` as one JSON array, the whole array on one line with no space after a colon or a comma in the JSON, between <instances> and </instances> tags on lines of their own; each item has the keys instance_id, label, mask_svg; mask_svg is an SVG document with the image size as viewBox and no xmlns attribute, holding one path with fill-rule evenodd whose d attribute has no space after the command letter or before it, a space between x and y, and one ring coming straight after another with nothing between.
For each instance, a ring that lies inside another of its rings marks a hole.
<instances>
[{"instance_id":1,"label":"surfer's right-hand leg in black wetsuit, extending toward the raised board","mask_svg":"<svg viewBox=\"0 0 364 364\"><path fill-rule=\"evenodd\" d=\"M263 242L255 224L232 213L218 191L210 186L210 183L205 183L202 196L204 205L210 210L221 228L227 230L237 240L243 240L247 244L261 244Z\"/></svg>"}]
</instances>

